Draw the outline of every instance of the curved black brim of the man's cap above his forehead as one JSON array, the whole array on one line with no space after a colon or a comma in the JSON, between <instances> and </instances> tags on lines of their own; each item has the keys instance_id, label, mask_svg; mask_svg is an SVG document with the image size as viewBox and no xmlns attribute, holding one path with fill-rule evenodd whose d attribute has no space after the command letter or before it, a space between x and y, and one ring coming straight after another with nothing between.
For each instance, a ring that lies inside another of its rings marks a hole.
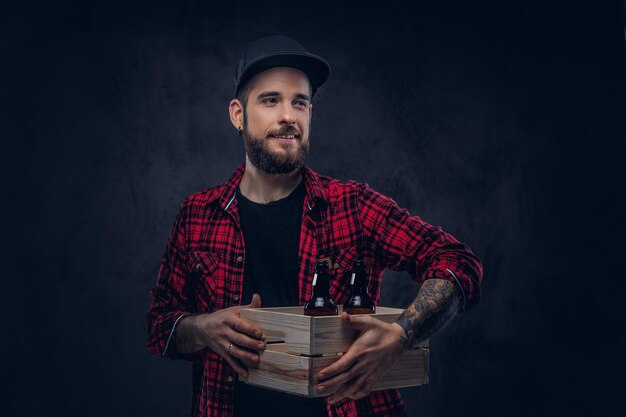
<instances>
[{"instance_id":1,"label":"curved black brim of the man's cap above his forehead","mask_svg":"<svg viewBox=\"0 0 626 417\"><path fill-rule=\"evenodd\" d=\"M303 52L273 53L263 55L248 64L241 74L235 93L256 74L275 67L290 67L304 72L309 77L314 92L330 76L330 65L317 55Z\"/></svg>"}]
</instances>

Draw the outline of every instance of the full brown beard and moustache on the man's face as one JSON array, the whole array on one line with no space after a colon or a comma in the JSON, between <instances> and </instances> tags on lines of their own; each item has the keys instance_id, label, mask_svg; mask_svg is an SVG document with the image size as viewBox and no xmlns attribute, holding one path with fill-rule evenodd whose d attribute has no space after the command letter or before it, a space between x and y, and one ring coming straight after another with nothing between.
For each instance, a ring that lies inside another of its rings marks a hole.
<instances>
[{"instance_id":1,"label":"full brown beard and moustache on the man's face","mask_svg":"<svg viewBox=\"0 0 626 417\"><path fill-rule=\"evenodd\" d=\"M292 130L281 131L278 134L294 134ZM289 174L302 168L309 154L309 141L300 142L295 152L275 153L268 146L269 138L254 136L247 126L243 129L243 144L252 165L267 174ZM297 139L296 139L297 140ZM302 138L300 138L302 140Z\"/></svg>"}]
</instances>

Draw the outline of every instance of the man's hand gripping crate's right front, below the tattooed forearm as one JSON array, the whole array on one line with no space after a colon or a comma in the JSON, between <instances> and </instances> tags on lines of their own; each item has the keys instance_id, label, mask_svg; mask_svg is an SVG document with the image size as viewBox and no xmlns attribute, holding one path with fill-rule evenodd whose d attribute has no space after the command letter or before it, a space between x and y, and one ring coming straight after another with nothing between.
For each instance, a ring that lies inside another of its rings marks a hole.
<instances>
[{"instance_id":1,"label":"man's hand gripping crate's right front, below the tattooed forearm","mask_svg":"<svg viewBox=\"0 0 626 417\"><path fill-rule=\"evenodd\" d=\"M343 398L365 397L400 357L404 330L398 324L387 324L371 316L341 314L342 321L360 331L348 351L319 374L318 392L338 390L328 398L335 403Z\"/></svg>"}]
</instances>

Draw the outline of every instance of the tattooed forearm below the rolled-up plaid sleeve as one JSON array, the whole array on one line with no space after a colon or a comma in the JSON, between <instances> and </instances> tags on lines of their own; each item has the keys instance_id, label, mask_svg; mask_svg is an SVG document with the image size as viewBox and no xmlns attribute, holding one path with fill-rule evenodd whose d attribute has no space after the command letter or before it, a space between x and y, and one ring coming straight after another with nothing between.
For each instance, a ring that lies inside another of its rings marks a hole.
<instances>
[{"instance_id":1,"label":"tattooed forearm below the rolled-up plaid sleeve","mask_svg":"<svg viewBox=\"0 0 626 417\"><path fill-rule=\"evenodd\" d=\"M459 311L459 297L459 291L451 281L424 281L415 300L397 320L407 334L400 343L406 349L413 349L445 326Z\"/></svg>"}]
</instances>

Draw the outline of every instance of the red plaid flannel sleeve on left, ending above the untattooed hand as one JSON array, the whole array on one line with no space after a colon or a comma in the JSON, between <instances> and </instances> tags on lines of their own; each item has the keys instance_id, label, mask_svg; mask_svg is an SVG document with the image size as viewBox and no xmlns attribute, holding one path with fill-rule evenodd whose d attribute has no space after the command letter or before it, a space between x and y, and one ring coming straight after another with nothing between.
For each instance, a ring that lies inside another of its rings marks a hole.
<instances>
[{"instance_id":1,"label":"red plaid flannel sleeve on left, ending above the untattooed hand","mask_svg":"<svg viewBox=\"0 0 626 417\"><path fill-rule=\"evenodd\" d=\"M191 314L191 292L187 284L186 223L188 206L181 205L167 240L165 254L150 290L151 305L147 316L148 351L171 359L197 360L201 352L180 354L176 351L175 330L179 321Z\"/></svg>"}]
</instances>

